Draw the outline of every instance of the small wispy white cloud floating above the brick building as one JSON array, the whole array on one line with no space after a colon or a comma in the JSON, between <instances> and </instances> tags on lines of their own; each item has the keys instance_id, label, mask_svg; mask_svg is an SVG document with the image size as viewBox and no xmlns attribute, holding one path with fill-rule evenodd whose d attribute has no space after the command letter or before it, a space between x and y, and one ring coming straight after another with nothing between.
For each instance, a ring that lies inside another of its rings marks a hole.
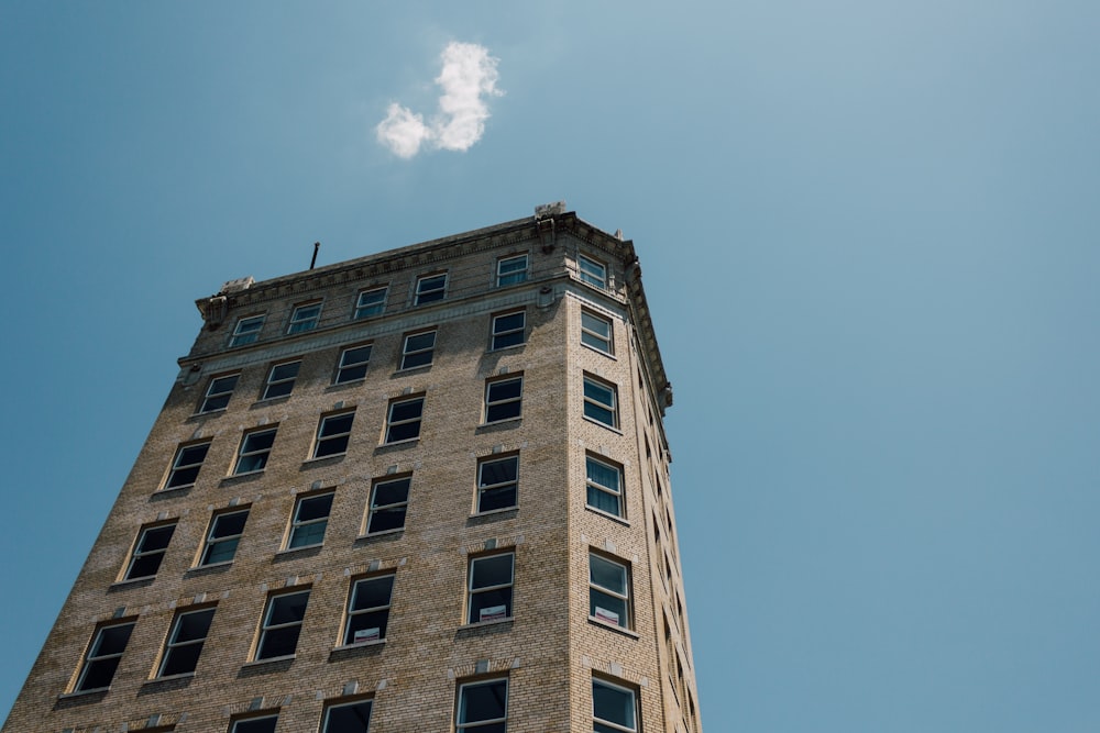
<instances>
[{"instance_id":1,"label":"small wispy white cloud floating above the brick building","mask_svg":"<svg viewBox=\"0 0 1100 733\"><path fill-rule=\"evenodd\" d=\"M485 97L501 96L496 88L499 59L475 43L452 42L441 55L443 68L436 78L443 93L439 114L430 124L407 107L392 103L375 132L378 142L403 158L416 155L422 145L444 151L468 151L485 134L488 104Z\"/></svg>"}]
</instances>

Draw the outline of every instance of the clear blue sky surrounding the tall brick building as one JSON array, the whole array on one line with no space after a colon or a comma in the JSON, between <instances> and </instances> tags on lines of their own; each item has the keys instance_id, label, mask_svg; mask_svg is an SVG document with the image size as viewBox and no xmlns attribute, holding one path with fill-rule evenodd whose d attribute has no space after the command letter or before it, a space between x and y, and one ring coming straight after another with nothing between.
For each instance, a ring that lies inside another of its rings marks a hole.
<instances>
[{"instance_id":1,"label":"clear blue sky surrounding the tall brick building","mask_svg":"<svg viewBox=\"0 0 1100 733\"><path fill-rule=\"evenodd\" d=\"M196 298L564 199L641 257L705 730L1100 729L1098 37L1070 0L7 0L0 718ZM504 93L395 155L452 42Z\"/></svg>"}]
</instances>

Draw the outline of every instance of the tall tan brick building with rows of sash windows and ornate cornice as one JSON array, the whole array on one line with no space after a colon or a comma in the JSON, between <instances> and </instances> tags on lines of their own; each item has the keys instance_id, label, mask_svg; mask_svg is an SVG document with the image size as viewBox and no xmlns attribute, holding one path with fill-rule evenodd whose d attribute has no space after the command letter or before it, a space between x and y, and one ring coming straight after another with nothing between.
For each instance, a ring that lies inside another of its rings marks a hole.
<instances>
[{"instance_id":1,"label":"tall tan brick building with rows of sash windows and ornate cornice","mask_svg":"<svg viewBox=\"0 0 1100 733\"><path fill-rule=\"evenodd\" d=\"M631 242L552 204L197 304L3 733L698 733Z\"/></svg>"}]
</instances>

